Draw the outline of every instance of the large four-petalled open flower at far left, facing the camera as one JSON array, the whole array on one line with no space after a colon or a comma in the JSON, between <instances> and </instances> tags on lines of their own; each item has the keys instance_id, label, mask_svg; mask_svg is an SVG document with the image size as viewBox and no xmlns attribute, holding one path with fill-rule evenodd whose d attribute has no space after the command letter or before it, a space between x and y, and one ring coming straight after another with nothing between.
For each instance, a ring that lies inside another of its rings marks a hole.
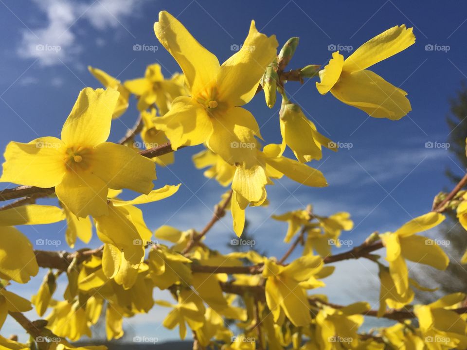
<instances>
[{"instance_id":1,"label":"large four-petalled open flower at far left, facing the camera","mask_svg":"<svg viewBox=\"0 0 467 350\"><path fill-rule=\"evenodd\" d=\"M43 188L77 217L108 213L108 188L149 193L154 163L130 148L106 142L119 93L84 88L62 128L61 140L10 142L0 181ZM137 171L136 171L137 170Z\"/></svg>"}]
</instances>

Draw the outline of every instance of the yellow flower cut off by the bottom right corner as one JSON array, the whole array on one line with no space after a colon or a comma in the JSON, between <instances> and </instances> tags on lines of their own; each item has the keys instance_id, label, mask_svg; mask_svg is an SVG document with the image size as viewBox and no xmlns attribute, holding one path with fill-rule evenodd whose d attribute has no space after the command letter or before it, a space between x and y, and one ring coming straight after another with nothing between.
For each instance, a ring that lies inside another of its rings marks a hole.
<instances>
[{"instance_id":1,"label":"yellow flower cut off by the bottom right corner","mask_svg":"<svg viewBox=\"0 0 467 350\"><path fill-rule=\"evenodd\" d=\"M454 293L428 305L415 305L413 310L429 350L466 349L465 317L449 310L460 306L465 299L464 293Z\"/></svg>"}]
</instances>

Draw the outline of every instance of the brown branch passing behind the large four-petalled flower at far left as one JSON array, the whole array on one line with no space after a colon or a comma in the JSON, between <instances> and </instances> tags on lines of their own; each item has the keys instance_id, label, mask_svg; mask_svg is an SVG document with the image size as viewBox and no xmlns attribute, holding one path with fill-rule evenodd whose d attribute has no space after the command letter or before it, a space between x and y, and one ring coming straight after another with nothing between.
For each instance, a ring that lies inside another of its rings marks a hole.
<instances>
[{"instance_id":1,"label":"brown branch passing behind the large four-petalled flower at far left","mask_svg":"<svg viewBox=\"0 0 467 350\"><path fill-rule=\"evenodd\" d=\"M183 148L185 146L181 146ZM157 147L149 148L139 152L140 155L147 158L159 157L164 154L173 152L170 142L162 143ZM36 186L18 186L12 189L5 189L0 191L0 201L17 199L21 197L35 196L36 198L47 197L55 192L54 187L40 188Z\"/></svg>"}]
</instances>

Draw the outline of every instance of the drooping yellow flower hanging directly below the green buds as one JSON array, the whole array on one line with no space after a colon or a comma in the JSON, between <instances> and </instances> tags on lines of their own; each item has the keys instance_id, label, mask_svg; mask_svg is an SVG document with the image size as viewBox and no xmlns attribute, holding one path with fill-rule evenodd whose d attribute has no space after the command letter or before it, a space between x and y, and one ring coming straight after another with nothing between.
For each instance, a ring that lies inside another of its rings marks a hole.
<instances>
[{"instance_id":1,"label":"drooping yellow flower hanging directly below the green buds","mask_svg":"<svg viewBox=\"0 0 467 350\"><path fill-rule=\"evenodd\" d=\"M282 141L301 163L321 159L321 147L337 151L337 144L321 135L299 105L282 100L280 115Z\"/></svg>"}]
</instances>

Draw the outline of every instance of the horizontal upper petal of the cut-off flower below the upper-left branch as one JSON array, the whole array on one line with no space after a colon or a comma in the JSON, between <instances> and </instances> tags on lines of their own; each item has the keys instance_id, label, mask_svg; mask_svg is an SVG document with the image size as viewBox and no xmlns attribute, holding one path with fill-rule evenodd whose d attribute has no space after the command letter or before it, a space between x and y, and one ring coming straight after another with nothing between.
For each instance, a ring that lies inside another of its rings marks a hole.
<instances>
[{"instance_id":1,"label":"horizontal upper petal of the cut-off flower below the upper-left branch","mask_svg":"<svg viewBox=\"0 0 467 350\"><path fill-rule=\"evenodd\" d=\"M0 226L51 224L65 219L60 208L43 205L26 205L0 210Z\"/></svg>"}]
</instances>

